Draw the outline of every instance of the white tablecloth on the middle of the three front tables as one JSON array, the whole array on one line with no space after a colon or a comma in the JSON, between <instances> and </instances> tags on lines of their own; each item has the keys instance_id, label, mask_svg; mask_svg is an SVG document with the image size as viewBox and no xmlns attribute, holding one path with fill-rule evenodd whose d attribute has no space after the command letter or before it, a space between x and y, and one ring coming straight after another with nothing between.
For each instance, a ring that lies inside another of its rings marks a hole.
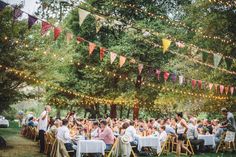
<instances>
[{"instance_id":1,"label":"white tablecloth on the middle of the three front tables","mask_svg":"<svg viewBox=\"0 0 236 157\"><path fill-rule=\"evenodd\" d=\"M157 153L161 152L161 142L159 137L153 136L136 136L135 139L138 142L138 151L141 151L142 147L153 147L157 149Z\"/></svg>"}]
</instances>

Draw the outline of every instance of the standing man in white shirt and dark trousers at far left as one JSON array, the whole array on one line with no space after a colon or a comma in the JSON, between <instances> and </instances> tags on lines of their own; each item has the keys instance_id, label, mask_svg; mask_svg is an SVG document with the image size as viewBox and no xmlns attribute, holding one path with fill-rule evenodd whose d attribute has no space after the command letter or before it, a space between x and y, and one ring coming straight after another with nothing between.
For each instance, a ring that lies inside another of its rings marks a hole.
<instances>
[{"instance_id":1,"label":"standing man in white shirt and dark trousers at far left","mask_svg":"<svg viewBox=\"0 0 236 157\"><path fill-rule=\"evenodd\" d=\"M44 152L44 133L47 131L47 126L48 126L48 114L51 112L51 107L50 106L45 106L44 111L41 113L39 117L39 140L40 140L40 153Z\"/></svg>"}]
</instances>

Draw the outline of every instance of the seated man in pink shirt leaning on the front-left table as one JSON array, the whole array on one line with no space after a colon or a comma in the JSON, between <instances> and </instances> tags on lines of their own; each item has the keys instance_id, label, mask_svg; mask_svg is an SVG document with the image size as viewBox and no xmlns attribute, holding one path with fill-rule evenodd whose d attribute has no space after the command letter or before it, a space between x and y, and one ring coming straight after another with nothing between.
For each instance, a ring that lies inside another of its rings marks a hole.
<instances>
[{"instance_id":1,"label":"seated man in pink shirt leaning on the front-left table","mask_svg":"<svg viewBox=\"0 0 236 157\"><path fill-rule=\"evenodd\" d=\"M100 122L101 131L99 136L95 139L103 140L106 144L106 150L111 150L114 143L115 136L113 135L112 129L107 125L105 120Z\"/></svg>"}]
</instances>

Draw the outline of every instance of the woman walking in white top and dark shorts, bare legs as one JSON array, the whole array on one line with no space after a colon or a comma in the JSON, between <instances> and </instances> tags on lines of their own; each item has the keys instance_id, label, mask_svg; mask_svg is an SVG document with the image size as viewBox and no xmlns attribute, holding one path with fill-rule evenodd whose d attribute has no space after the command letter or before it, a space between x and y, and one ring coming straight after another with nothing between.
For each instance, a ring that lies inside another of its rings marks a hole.
<instances>
[{"instance_id":1,"label":"woman walking in white top and dark shorts, bare legs","mask_svg":"<svg viewBox=\"0 0 236 157\"><path fill-rule=\"evenodd\" d=\"M177 119L177 156L180 156L181 153L181 148L185 149L188 153L189 156L192 156L191 151L187 147L184 146L184 141L186 140L186 133L188 131L188 125L186 121L183 119L183 113L179 112L176 114L176 119Z\"/></svg>"}]
</instances>

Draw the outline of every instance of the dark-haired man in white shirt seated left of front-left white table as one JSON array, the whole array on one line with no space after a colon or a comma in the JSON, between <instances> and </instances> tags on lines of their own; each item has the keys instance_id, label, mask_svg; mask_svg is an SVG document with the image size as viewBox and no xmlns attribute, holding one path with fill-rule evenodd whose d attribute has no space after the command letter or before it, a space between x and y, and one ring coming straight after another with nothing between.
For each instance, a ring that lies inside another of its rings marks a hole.
<instances>
[{"instance_id":1,"label":"dark-haired man in white shirt seated left of front-left white table","mask_svg":"<svg viewBox=\"0 0 236 157\"><path fill-rule=\"evenodd\" d=\"M65 144L66 150L73 150L67 119L63 119L62 126L57 129L57 138Z\"/></svg>"}]
</instances>

